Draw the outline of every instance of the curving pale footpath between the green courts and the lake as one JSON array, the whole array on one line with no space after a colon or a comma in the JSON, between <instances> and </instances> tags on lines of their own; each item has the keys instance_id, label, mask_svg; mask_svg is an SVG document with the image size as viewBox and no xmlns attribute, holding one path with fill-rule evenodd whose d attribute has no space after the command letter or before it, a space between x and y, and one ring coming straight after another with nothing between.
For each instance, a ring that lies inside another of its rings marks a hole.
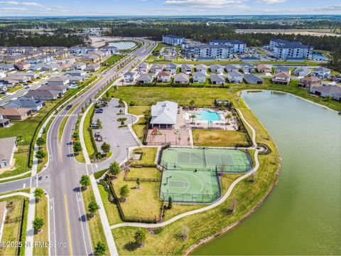
<instances>
[{"instance_id":1,"label":"curving pale footpath between the green courts and the lake","mask_svg":"<svg viewBox=\"0 0 341 256\"><path fill-rule=\"evenodd\" d=\"M247 126L250 127L251 131L252 131L252 143L253 146L251 146L249 149L256 149L256 131L254 130L254 127L251 127L251 124L249 124L249 122L247 122L247 120L244 118L242 112L240 110L237 110L240 114L240 117L243 119L243 121L245 122L245 124L247 124ZM212 208L215 208L217 206L219 206L220 204L224 203L224 201L229 197L229 195L232 193L232 190L234 188L234 186L237 185L237 183L239 183L239 181L242 181L244 178L247 178L248 176L254 174L255 171L257 171L259 169L259 159L258 159L258 153L259 153L259 149L256 149L254 152L254 159L255 159L255 166L253 169L251 169L251 171L249 171L247 174L244 174L243 176L240 176L239 178L237 178L235 181L232 182L231 186L229 186L229 188L227 189L227 192L224 194L224 196L222 196L218 201L216 201L215 203L212 203L210 206L206 206L204 208L200 208L197 210L191 210L187 213L182 213L180 215L177 215L169 220L166 220L162 223L155 223L155 224L150 224L150 223L119 223L116 225L112 225L110 228L120 228L120 227L141 227L141 228L159 228L159 227L163 227L165 225L171 224L176 220L180 220L180 218L183 218L185 216L188 215L193 215L195 213L202 213L206 210L210 210Z\"/></svg>"}]
</instances>

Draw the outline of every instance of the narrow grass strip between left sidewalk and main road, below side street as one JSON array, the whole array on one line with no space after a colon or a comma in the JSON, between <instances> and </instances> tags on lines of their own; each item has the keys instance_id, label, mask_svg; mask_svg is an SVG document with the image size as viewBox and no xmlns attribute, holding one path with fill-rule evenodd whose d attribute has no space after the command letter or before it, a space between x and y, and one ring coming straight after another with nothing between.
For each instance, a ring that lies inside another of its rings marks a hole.
<instances>
[{"instance_id":1,"label":"narrow grass strip between left sidewalk and main road, below side street","mask_svg":"<svg viewBox=\"0 0 341 256\"><path fill-rule=\"evenodd\" d=\"M44 226L40 233L36 233L34 235L34 242L46 242L48 244L48 198L43 196L36 203L36 217L35 218L43 218ZM43 246L35 246L33 247L33 255L48 255L48 247Z\"/></svg>"}]
</instances>

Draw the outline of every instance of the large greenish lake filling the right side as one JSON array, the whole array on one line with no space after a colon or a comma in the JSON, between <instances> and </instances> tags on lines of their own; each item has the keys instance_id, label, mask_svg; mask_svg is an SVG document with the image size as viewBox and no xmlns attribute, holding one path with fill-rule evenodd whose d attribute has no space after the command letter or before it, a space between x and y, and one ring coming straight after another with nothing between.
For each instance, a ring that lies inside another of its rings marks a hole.
<instances>
[{"instance_id":1,"label":"large greenish lake filling the right side","mask_svg":"<svg viewBox=\"0 0 341 256\"><path fill-rule=\"evenodd\" d=\"M341 117L283 93L242 92L281 154L255 213L193 255L341 255Z\"/></svg>"}]
</instances>

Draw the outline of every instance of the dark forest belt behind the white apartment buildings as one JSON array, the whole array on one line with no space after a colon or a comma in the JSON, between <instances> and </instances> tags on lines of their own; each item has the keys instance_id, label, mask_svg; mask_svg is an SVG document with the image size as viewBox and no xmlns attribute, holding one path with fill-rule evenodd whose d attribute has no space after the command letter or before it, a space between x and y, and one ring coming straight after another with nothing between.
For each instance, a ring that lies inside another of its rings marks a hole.
<instances>
[{"instance_id":1,"label":"dark forest belt behind the white apartment buildings","mask_svg":"<svg viewBox=\"0 0 341 256\"><path fill-rule=\"evenodd\" d=\"M173 34L192 38L203 43L211 39L238 39L245 41L248 46L263 46L269 44L271 38L282 38L290 41L301 41L308 46L319 50L333 51L341 47L341 37L336 36L308 36L294 34L273 33L236 33L229 23L156 23L153 26L126 23L124 26L112 28L107 33L109 36L148 36L154 40L161 40L162 35Z\"/></svg>"}]
</instances>

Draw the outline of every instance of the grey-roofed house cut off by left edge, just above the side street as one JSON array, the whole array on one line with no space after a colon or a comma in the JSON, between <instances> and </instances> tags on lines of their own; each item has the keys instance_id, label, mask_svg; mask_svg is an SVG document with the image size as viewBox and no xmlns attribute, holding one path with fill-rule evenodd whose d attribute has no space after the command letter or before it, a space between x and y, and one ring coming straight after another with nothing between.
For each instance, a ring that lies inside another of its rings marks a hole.
<instances>
[{"instance_id":1,"label":"grey-roofed house cut off by left edge, just above the side street","mask_svg":"<svg viewBox=\"0 0 341 256\"><path fill-rule=\"evenodd\" d=\"M16 151L16 137L0 139L0 169L13 167L13 156Z\"/></svg>"}]
</instances>

